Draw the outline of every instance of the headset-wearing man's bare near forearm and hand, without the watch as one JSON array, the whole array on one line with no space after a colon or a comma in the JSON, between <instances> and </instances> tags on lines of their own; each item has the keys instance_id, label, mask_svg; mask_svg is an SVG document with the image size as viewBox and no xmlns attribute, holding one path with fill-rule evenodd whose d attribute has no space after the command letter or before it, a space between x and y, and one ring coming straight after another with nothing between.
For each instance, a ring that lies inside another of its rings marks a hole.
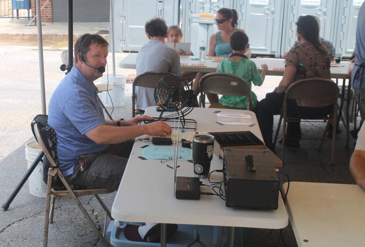
<instances>
[{"instance_id":1,"label":"headset-wearing man's bare near forearm and hand, without the watch","mask_svg":"<svg viewBox=\"0 0 365 247\"><path fill-rule=\"evenodd\" d=\"M98 125L86 132L85 135L97 144L116 144L142 136L143 134L148 134L150 136L164 136L171 133L172 129L167 123L158 121L145 125L134 125L128 127Z\"/></svg>"}]
</instances>

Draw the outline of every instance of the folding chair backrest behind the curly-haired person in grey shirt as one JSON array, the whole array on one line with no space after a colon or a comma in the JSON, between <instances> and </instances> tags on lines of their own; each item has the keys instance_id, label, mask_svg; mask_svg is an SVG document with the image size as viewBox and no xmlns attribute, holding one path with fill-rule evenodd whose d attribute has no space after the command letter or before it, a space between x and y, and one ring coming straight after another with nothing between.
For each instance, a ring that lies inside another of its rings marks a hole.
<instances>
[{"instance_id":1,"label":"folding chair backrest behind the curly-haired person in grey shirt","mask_svg":"<svg viewBox=\"0 0 365 247\"><path fill-rule=\"evenodd\" d=\"M170 75L174 74L169 72L144 72L134 78L132 84L132 117L135 116L135 86L155 88L158 81Z\"/></svg>"}]
</instances>

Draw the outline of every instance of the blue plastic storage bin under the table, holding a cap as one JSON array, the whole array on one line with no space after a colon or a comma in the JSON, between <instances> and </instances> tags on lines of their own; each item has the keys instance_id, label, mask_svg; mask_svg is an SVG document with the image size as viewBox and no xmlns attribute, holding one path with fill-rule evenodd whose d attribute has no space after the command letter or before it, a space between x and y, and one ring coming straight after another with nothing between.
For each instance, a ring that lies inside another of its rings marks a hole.
<instances>
[{"instance_id":1,"label":"blue plastic storage bin under the table, holding a cap","mask_svg":"<svg viewBox=\"0 0 365 247\"><path fill-rule=\"evenodd\" d=\"M140 226L141 223L131 222ZM167 247L185 247L191 243L196 236L196 225L178 225L177 231L167 239ZM123 228L114 226L112 220L108 226L107 235L110 243L114 247L146 247L146 246L161 246L160 243L145 243L129 241L124 236ZM220 226L199 226L200 241L207 247L220 247L226 243L226 228ZM198 243L193 246L200 246Z\"/></svg>"}]
</instances>

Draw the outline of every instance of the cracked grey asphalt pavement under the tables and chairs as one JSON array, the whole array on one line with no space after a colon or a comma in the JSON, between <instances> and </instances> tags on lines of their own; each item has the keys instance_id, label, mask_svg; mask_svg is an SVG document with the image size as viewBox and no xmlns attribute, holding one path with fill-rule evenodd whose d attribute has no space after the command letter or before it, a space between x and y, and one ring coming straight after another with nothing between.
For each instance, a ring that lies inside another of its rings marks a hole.
<instances>
[{"instance_id":1,"label":"cracked grey asphalt pavement under the tables and chairs","mask_svg":"<svg viewBox=\"0 0 365 247\"><path fill-rule=\"evenodd\" d=\"M37 114L41 114L41 91L39 79L38 44L34 37L36 27L26 31L28 38L15 39L25 28L22 23L6 23L0 19L0 204L5 203L8 196L16 187L27 170L25 145L34 140L30 123ZM76 26L76 27L75 27ZM4 28L3 28L4 27ZM30 27L28 27L30 28ZM61 51L67 49L65 35L67 26L63 24L46 24L42 27L43 55L45 68L46 104L58 83L65 76L59 70ZM53 30L53 31L52 31ZM78 34L85 32L96 33L108 30L108 25L74 25ZM8 35L6 35L8 33ZM24 32L25 33L25 32ZM105 32L104 32L105 33ZM31 38L33 37L33 38ZM58 38L57 38L58 37ZM76 38L76 37L74 37ZM106 35L105 38L108 38ZM14 45L13 45L14 44ZM133 74L134 70L118 68L118 63L126 53L116 53L116 73ZM112 72L111 55L108 56L108 72ZM261 87L253 87L258 99L272 91L280 82L280 78L268 76ZM131 118L131 84L127 84L124 92L124 106L108 107L113 118ZM274 118L274 129L278 117ZM302 123L303 136L320 137L324 124ZM352 184L353 180L348 169L349 159L354 149L354 139L350 137L350 148L345 149L345 127L340 122L341 133L336 136L335 164L330 165L331 151L323 150L286 150L283 170L288 173L291 181L307 181L319 183ZM350 128L353 128L351 123ZM302 141L302 147L315 148L318 142ZM326 138L324 148L330 149L331 139ZM281 154L281 146L276 146L277 154ZM286 178L278 175L281 182ZM290 191L289 191L290 193ZM115 192L104 195L108 208L111 208ZM85 196L81 198L85 208L91 213L93 220L102 228L104 212L96 198ZM29 193L28 181L9 209L0 209L0 246L42 246L43 225L45 213L45 198L36 197ZM289 224L283 230L283 238L287 246L296 246L296 240ZM253 246L284 246L278 230L255 229ZM100 241L82 216L72 199L56 199L54 223L50 224L49 246L101 246Z\"/></svg>"}]
</instances>

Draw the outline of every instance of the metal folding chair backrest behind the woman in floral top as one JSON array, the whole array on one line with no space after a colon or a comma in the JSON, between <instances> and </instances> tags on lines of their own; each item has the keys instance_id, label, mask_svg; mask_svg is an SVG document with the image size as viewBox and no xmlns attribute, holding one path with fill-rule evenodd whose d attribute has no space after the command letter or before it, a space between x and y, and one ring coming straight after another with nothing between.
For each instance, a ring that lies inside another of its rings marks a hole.
<instances>
[{"instance_id":1,"label":"metal folding chair backrest behind the woman in floral top","mask_svg":"<svg viewBox=\"0 0 365 247\"><path fill-rule=\"evenodd\" d=\"M309 78L294 82L287 89L287 99L336 102L339 89L335 82L328 79Z\"/></svg>"}]
</instances>

